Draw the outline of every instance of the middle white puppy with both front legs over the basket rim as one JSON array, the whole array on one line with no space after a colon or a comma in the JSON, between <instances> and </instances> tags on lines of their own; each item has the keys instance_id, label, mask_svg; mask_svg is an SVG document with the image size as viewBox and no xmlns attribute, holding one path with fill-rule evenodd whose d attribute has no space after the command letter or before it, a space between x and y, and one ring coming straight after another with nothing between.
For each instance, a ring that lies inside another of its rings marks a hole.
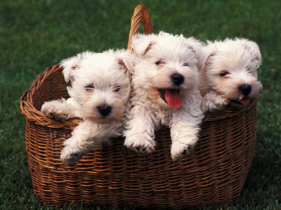
<instances>
[{"instance_id":1,"label":"middle white puppy with both front legs over the basket rim","mask_svg":"<svg viewBox=\"0 0 281 210\"><path fill-rule=\"evenodd\" d=\"M141 153L155 150L155 129L171 128L171 158L188 155L198 140L202 97L197 90L201 43L164 32L137 34L131 47L132 109L124 145Z\"/></svg>"}]
</instances>

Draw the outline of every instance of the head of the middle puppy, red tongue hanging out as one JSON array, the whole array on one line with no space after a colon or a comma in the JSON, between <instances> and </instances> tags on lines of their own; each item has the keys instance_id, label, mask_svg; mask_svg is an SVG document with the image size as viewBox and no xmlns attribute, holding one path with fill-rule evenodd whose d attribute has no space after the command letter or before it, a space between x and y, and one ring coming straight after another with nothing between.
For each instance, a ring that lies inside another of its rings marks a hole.
<instances>
[{"instance_id":1,"label":"head of the middle puppy, red tongue hanging out","mask_svg":"<svg viewBox=\"0 0 281 210\"><path fill-rule=\"evenodd\" d=\"M201 43L160 32L137 34L131 47L137 60L134 87L159 106L178 109L185 93L197 87Z\"/></svg>"}]
</instances>

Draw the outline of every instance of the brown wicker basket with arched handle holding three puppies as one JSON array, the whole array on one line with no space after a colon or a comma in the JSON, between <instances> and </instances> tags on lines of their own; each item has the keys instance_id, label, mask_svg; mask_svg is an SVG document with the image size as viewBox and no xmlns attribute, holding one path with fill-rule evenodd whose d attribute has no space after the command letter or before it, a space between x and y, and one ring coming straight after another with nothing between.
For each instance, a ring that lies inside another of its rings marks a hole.
<instances>
[{"instance_id":1,"label":"brown wicker basket with arched handle holding three puppies","mask_svg":"<svg viewBox=\"0 0 281 210\"><path fill-rule=\"evenodd\" d=\"M145 33L151 33L143 5L135 9L130 40L141 22ZM240 196L254 155L256 102L241 111L228 107L207 114L199 143L177 162L171 160L169 128L162 127L154 153L130 151L119 138L67 166L60 151L80 120L60 123L39 111L46 101L68 97L62 70L58 64L48 67L20 99L32 183L41 201L51 206L84 202L179 209L228 204Z\"/></svg>"}]
</instances>

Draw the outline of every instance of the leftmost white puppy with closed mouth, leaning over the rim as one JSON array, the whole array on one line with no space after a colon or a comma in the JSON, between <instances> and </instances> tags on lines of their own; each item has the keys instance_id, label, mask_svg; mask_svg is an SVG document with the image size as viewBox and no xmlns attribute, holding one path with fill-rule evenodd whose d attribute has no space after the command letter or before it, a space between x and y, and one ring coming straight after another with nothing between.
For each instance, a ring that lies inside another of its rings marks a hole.
<instances>
[{"instance_id":1,"label":"leftmost white puppy with closed mouth, leaning over the rim","mask_svg":"<svg viewBox=\"0 0 281 210\"><path fill-rule=\"evenodd\" d=\"M79 117L72 137L64 142L60 159L75 162L94 146L122 135L129 112L130 83L128 68L131 52L108 50L84 52L63 60L70 98L45 102L41 111L50 118L65 120Z\"/></svg>"}]
</instances>

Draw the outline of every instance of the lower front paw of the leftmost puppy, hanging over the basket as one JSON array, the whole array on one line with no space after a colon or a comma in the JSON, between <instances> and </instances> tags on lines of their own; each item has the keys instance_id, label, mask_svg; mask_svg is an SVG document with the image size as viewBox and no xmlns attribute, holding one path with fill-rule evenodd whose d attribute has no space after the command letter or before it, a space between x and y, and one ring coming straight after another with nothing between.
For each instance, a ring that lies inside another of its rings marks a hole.
<instances>
[{"instance_id":1,"label":"lower front paw of the leftmost puppy, hanging over the basket","mask_svg":"<svg viewBox=\"0 0 281 210\"><path fill-rule=\"evenodd\" d=\"M80 160L85 151L80 148L73 148L71 146L65 146L60 153L60 160L63 160L67 165Z\"/></svg>"}]
</instances>

